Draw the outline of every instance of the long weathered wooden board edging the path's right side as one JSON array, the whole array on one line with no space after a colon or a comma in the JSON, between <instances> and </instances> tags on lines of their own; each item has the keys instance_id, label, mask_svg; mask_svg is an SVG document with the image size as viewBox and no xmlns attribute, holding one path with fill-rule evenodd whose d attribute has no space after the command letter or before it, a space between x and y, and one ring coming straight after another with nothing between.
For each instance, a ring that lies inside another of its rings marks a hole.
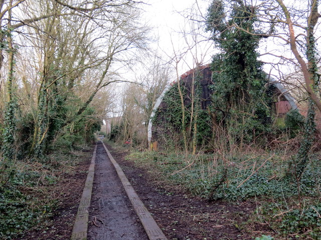
<instances>
[{"instance_id":1,"label":"long weathered wooden board edging the path's right side","mask_svg":"<svg viewBox=\"0 0 321 240\"><path fill-rule=\"evenodd\" d=\"M147 208L144 206L142 201L139 199L134 188L131 186L127 177L125 176L125 173L123 172L119 164L116 162L116 160L113 158L113 156L110 154L109 150L107 149L104 143L103 143L103 146L108 154L110 161L112 162L112 164L116 169L116 172L121 180L121 183L128 195L128 198L131 204L134 207L134 210L136 211L139 217L139 220L142 226L144 227L147 233L148 238L150 240L167 240L165 234L163 233L161 228L159 228L156 221L151 216L150 212L147 210Z\"/></svg>"}]
</instances>

